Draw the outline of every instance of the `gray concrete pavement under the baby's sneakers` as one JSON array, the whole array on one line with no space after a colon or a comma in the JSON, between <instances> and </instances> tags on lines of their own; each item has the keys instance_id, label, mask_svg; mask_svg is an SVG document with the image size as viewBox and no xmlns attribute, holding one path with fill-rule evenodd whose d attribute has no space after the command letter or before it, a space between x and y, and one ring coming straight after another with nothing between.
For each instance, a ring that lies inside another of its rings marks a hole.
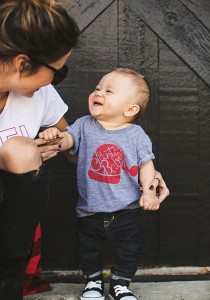
<instances>
[{"instance_id":1,"label":"gray concrete pavement under the baby's sneakers","mask_svg":"<svg viewBox=\"0 0 210 300\"><path fill-rule=\"evenodd\" d=\"M51 284L51 292L26 296L24 300L78 300L83 284ZM106 298L108 284L105 284ZM172 281L131 283L139 300L210 300L210 281Z\"/></svg>"}]
</instances>

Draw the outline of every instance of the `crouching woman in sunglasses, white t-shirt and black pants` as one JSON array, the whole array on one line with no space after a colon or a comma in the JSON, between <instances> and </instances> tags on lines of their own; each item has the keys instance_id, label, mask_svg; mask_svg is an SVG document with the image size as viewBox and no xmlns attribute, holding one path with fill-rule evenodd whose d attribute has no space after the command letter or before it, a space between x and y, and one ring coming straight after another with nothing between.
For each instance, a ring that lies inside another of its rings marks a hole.
<instances>
[{"instance_id":1,"label":"crouching woman in sunglasses, white t-shirt and black pants","mask_svg":"<svg viewBox=\"0 0 210 300\"><path fill-rule=\"evenodd\" d=\"M53 0L0 3L0 300L23 299L25 258L47 201L40 149L48 148L33 139L42 126L67 125L67 106L52 85L67 76L78 35ZM57 151L51 146L44 159Z\"/></svg>"}]
</instances>

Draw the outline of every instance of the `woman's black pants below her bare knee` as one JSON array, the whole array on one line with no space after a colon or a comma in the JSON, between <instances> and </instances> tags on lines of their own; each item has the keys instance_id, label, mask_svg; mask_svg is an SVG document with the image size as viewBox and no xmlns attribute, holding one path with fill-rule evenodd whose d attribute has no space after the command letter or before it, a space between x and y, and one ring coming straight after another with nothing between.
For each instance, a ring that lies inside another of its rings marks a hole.
<instances>
[{"instance_id":1,"label":"woman's black pants below her bare knee","mask_svg":"<svg viewBox=\"0 0 210 300\"><path fill-rule=\"evenodd\" d=\"M47 204L47 170L0 170L0 181L0 300L22 300L25 259Z\"/></svg>"}]
</instances>

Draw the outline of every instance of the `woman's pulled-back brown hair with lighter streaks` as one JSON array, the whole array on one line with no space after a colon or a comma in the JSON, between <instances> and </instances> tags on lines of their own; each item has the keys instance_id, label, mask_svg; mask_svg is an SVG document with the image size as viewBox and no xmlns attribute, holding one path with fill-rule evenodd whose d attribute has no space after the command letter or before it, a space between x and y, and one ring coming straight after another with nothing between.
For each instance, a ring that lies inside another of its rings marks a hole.
<instances>
[{"instance_id":1,"label":"woman's pulled-back brown hair with lighter streaks","mask_svg":"<svg viewBox=\"0 0 210 300\"><path fill-rule=\"evenodd\" d=\"M0 1L0 60L18 54L52 63L75 47L76 22L55 0Z\"/></svg>"}]
</instances>

